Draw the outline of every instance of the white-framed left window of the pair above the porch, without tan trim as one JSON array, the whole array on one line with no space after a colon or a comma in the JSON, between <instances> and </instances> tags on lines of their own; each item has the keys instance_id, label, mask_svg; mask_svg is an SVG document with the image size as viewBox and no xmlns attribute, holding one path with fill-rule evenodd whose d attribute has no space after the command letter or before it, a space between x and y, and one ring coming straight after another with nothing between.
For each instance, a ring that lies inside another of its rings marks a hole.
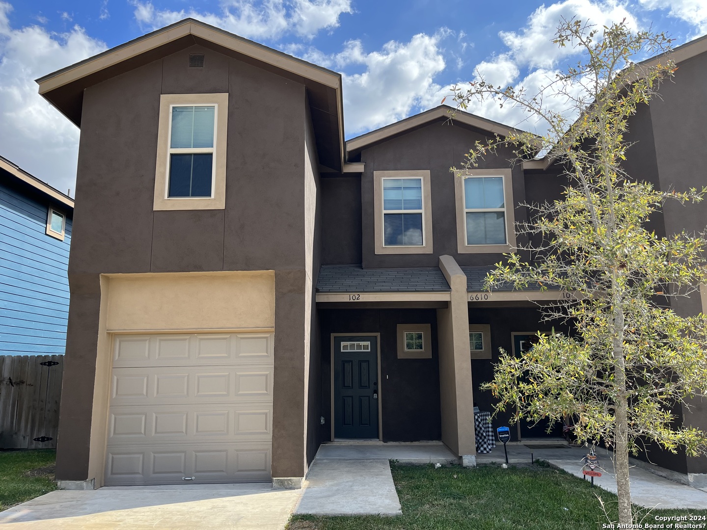
<instances>
[{"instance_id":1,"label":"white-framed left window of the pair above the porch, without tan trim","mask_svg":"<svg viewBox=\"0 0 707 530\"><path fill-rule=\"evenodd\" d=\"M383 245L422 247L422 179L383 179Z\"/></svg>"}]
</instances>

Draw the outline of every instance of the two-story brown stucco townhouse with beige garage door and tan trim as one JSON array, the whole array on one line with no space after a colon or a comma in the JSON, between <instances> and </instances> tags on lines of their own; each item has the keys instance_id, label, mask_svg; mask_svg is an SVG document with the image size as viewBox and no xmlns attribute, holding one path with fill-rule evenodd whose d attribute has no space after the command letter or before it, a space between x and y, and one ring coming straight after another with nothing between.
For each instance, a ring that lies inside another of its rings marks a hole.
<instances>
[{"instance_id":1,"label":"two-story brown stucco townhouse with beige garage door and tan trim","mask_svg":"<svg viewBox=\"0 0 707 530\"><path fill-rule=\"evenodd\" d=\"M455 178L509 129L449 107L344 142L338 73L190 19L38 83L81 127L62 487L297 487L331 440L473 463L498 348L563 296L481 290L554 167Z\"/></svg>"}]
</instances>

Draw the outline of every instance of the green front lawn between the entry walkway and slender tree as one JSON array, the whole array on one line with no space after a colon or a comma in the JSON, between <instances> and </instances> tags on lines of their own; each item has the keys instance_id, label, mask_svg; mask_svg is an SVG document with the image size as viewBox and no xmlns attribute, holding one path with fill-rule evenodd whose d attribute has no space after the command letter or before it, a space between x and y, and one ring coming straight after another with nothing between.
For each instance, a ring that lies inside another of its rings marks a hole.
<instances>
[{"instance_id":1,"label":"green front lawn between the entry walkway and slender tree","mask_svg":"<svg viewBox=\"0 0 707 530\"><path fill-rule=\"evenodd\" d=\"M391 469L402 516L294 516L288 530L596 530L608 522L596 495L617 520L616 495L549 466L391 464ZM655 510L645 522L655 523L657 514L688 513L707 515L707 510Z\"/></svg>"}]
</instances>

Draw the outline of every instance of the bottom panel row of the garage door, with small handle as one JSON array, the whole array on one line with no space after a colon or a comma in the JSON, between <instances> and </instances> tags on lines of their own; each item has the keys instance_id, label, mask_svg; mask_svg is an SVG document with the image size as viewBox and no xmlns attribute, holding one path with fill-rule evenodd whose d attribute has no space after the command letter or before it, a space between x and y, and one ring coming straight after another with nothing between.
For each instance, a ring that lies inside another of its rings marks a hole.
<instances>
[{"instance_id":1,"label":"bottom panel row of the garage door, with small handle","mask_svg":"<svg viewBox=\"0 0 707 530\"><path fill-rule=\"evenodd\" d=\"M268 481L270 442L109 447L106 485Z\"/></svg>"}]
</instances>

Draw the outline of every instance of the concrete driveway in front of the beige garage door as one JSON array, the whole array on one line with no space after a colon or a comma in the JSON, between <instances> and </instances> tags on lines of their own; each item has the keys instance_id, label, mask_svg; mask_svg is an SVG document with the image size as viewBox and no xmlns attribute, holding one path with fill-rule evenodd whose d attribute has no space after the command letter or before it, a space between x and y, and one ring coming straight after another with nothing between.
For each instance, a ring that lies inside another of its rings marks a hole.
<instances>
[{"instance_id":1,"label":"concrete driveway in front of the beige garage door","mask_svg":"<svg viewBox=\"0 0 707 530\"><path fill-rule=\"evenodd\" d=\"M185 484L57 490L0 513L8 529L280 530L302 490Z\"/></svg>"}]
</instances>

